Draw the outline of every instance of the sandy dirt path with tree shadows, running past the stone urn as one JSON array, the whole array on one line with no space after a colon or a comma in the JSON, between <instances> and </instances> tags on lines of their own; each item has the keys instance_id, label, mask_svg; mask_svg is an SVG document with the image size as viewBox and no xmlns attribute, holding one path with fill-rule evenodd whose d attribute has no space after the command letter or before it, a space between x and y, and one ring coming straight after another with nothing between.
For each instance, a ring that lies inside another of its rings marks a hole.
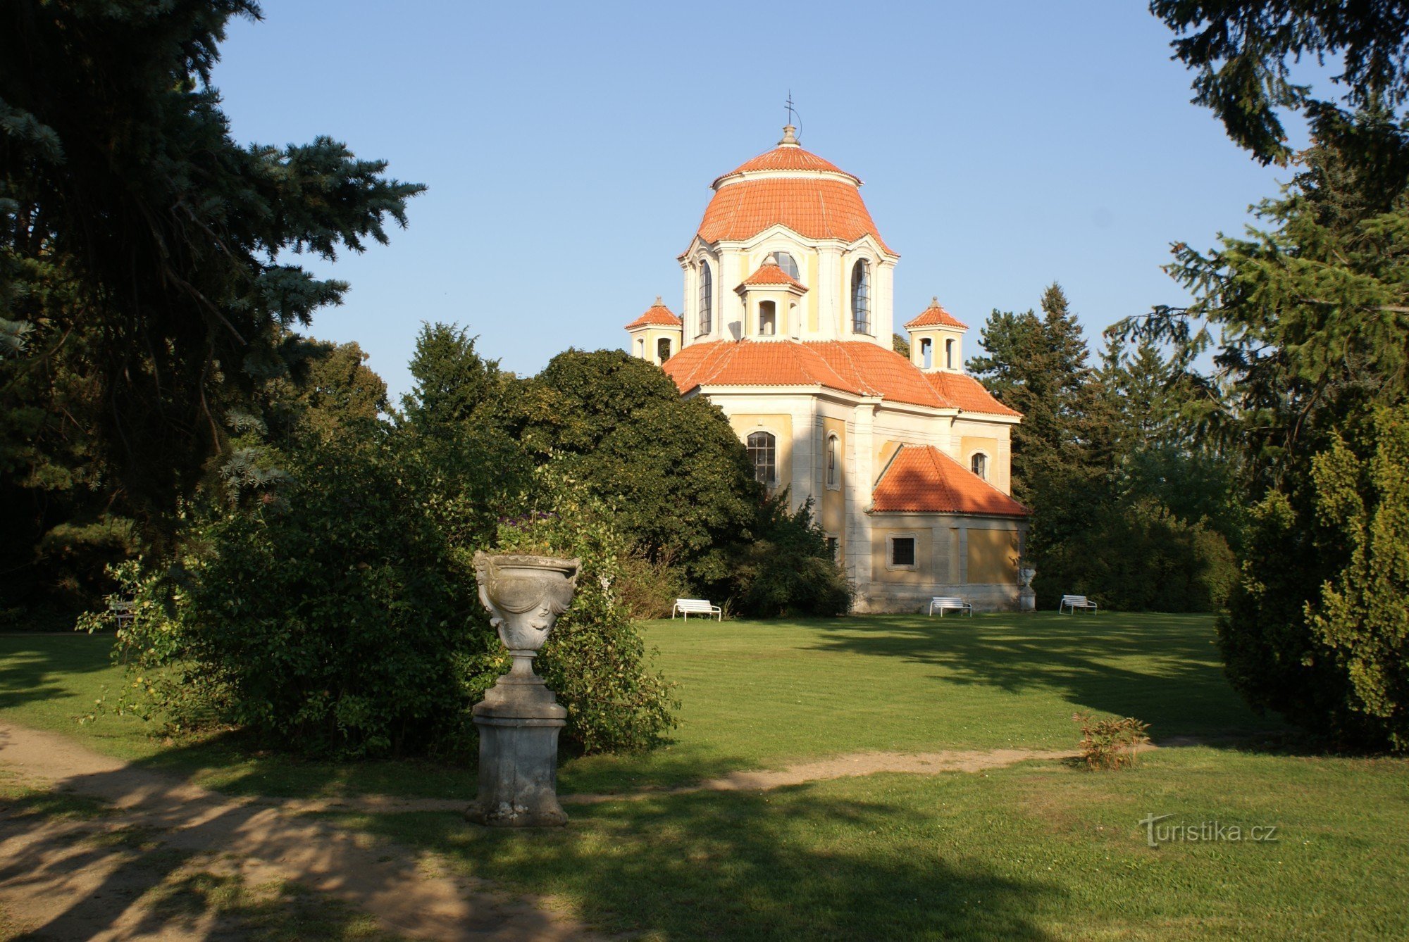
<instances>
[{"instance_id":1,"label":"sandy dirt path with tree shadows, running past the stone urn","mask_svg":"<svg viewBox=\"0 0 1409 942\"><path fill-rule=\"evenodd\" d=\"M774 772L734 772L669 790L562 796L597 804L661 794L761 791L876 772L981 772L1076 753L1038 749L864 752ZM0 811L0 910L54 938L234 938L209 912L159 911L183 873L230 876L247 886L293 881L345 900L400 936L428 939L578 939L585 927L544 900L509 897L444 873L433 858L311 819L318 811L461 811L464 801L356 796L334 800L238 798L99 755L65 736L0 724L0 769L97 798L97 818ZM139 852L138 852L139 850ZM6 927L0 925L0 931Z\"/></svg>"}]
</instances>

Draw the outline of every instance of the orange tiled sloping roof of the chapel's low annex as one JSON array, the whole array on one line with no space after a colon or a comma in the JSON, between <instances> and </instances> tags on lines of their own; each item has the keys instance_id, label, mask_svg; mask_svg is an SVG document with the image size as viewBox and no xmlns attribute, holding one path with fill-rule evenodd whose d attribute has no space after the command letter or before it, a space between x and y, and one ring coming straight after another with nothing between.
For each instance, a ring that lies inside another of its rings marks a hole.
<instances>
[{"instance_id":1,"label":"orange tiled sloping roof of the chapel's low annex","mask_svg":"<svg viewBox=\"0 0 1409 942\"><path fill-rule=\"evenodd\" d=\"M1026 517L1033 511L933 445L902 445L871 494L881 513Z\"/></svg>"}]
</instances>

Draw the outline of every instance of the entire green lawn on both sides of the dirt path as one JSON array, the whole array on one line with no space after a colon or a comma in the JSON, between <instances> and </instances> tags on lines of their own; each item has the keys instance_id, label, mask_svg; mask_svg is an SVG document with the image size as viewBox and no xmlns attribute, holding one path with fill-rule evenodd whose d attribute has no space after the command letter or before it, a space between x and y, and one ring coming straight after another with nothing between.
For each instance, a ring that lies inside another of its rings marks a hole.
<instances>
[{"instance_id":1,"label":"entire green lawn on both sides of the dirt path","mask_svg":"<svg viewBox=\"0 0 1409 942\"><path fill-rule=\"evenodd\" d=\"M1071 748L1075 710L1206 745L1120 773L1038 760L572 805L572 824L550 832L454 814L345 821L648 938L1409 938L1409 762L1299 751L1223 682L1210 618L690 620L645 632L681 684L674 742L566 760L562 791L868 749ZM79 728L69 717L120 683L104 648L0 638L0 715L231 790L473 790L457 769L163 745L113 717ZM1138 822L1151 814L1171 815L1164 827L1277 827L1277 841L1150 848Z\"/></svg>"}]
</instances>

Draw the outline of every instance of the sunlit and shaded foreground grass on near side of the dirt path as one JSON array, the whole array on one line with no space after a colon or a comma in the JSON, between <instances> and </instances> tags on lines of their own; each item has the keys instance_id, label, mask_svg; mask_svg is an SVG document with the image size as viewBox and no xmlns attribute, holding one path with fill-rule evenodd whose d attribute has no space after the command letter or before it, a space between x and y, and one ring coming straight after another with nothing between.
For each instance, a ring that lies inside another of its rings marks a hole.
<instances>
[{"instance_id":1,"label":"sunlit and shaded foreground grass on near side of the dirt path","mask_svg":"<svg viewBox=\"0 0 1409 942\"><path fill-rule=\"evenodd\" d=\"M348 819L647 938L1406 938L1409 766L1209 748L573 808L561 831ZM1147 814L1275 825L1148 848Z\"/></svg>"}]
</instances>

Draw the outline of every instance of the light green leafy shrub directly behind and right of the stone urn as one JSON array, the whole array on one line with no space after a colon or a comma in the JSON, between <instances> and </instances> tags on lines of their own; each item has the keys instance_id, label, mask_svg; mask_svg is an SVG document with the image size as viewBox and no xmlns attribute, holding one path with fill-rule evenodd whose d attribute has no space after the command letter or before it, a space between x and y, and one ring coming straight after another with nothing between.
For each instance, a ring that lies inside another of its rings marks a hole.
<instances>
[{"instance_id":1,"label":"light green leafy shrub directly behind and right of the stone urn","mask_svg":"<svg viewBox=\"0 0 1409 942\"><path fill-rule=\"evenodd\" d=\"M679 704L671 684L650 670L640 631L617 594L628 552L610 511L550 465L537 475L533 510L502 522L496 542L500 552L582 560L572 604L535 659L568 708L566 736L588 753L659 743Z\"/></svg>"}]
</instances>

